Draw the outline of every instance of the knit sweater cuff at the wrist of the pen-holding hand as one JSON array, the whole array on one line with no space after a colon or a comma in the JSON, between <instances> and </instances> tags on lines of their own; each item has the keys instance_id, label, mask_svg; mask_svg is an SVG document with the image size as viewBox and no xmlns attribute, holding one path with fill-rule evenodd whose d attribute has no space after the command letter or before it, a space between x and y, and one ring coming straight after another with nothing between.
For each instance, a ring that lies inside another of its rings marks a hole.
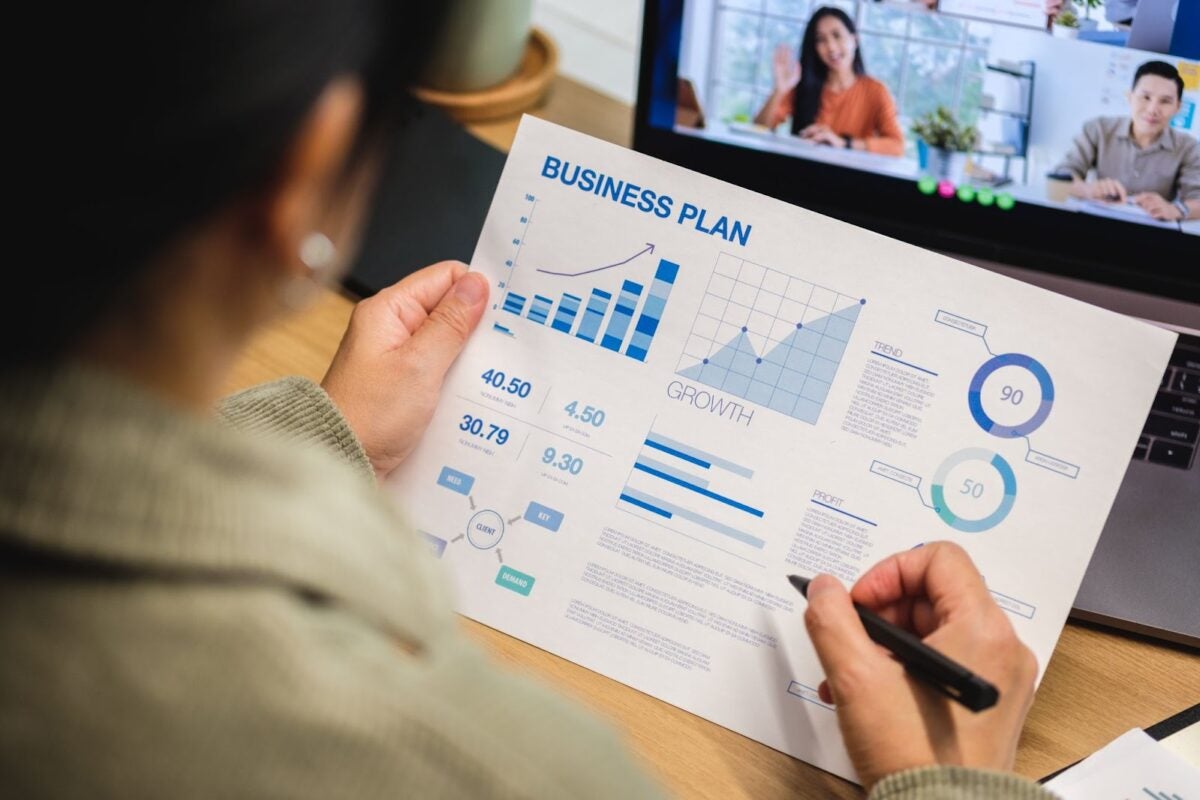
<instances>
[{"instance_id":1,"label":"knit sweater cuff at the wrist of the pen-holding hand","mask_svg":"<svg viewBox=\"0 0 1200 800\"><path fill-rule=\"evenodd\" d=\"M1012 772L965 766L920 766L889 775L868 800L1056 800L1055 795Z\"/></svg>"}]
</instances>

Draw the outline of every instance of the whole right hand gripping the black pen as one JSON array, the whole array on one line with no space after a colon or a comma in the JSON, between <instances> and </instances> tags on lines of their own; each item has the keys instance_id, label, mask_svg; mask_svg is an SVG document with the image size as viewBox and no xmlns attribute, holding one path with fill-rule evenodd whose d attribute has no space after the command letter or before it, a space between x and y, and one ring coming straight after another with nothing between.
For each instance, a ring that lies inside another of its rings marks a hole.
<instances>
[{"instance_id":1,"label":"whole right hand gripping the black pen","mask_svg":"<svg viewBox=\"0 0 1200 800\"><path fill-rule=\"evenodd\" d=\"M995 685L998 702L971 711L914 678L871 640L854 603ZM818 576L808 587L804 621L826 672L821 698L836 706L865 788L932 764L1012 769L1037 662L962 548L936 542L899 553L850 593Z\"/></svg>"}]
</instances>

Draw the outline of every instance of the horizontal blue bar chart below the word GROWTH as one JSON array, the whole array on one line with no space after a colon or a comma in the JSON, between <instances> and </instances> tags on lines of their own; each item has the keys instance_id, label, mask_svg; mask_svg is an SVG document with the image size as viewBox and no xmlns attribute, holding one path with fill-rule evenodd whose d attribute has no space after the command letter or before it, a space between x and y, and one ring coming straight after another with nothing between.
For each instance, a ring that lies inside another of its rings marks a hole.
<instances>
[{"instance_id":1,"label":"horizontal blue bar chart below the word GROWTH","mask_svg":"<svg viewBox=\"0 0 1200 800\"><path fill-rule=\"evenodd\" d=\"M728 552L762 551L764 513L748 499L754 470L650 431L618 498L618 507Z\"/></svg>"}]
</instances>

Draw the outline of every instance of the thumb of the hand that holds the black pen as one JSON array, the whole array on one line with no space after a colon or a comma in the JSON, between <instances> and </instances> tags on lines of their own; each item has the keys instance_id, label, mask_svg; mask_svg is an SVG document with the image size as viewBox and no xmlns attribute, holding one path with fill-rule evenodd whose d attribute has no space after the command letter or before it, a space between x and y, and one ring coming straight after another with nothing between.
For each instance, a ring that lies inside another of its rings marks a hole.
<instances>
[{"instance_id":1,"label":"thumb of the hand that holds the black pen","mask_svg":"<svg viewBox=\"0 0 1200 800\"><path fill-rule=\"evenodd\" d=\"M840 694L858 682L853 675L862 674L881 657L878 648L866 636L846 588L833 576L814 578L808 601L804 625L834 697L844 702L846 698Z\"/></svg>"}]
</instances>

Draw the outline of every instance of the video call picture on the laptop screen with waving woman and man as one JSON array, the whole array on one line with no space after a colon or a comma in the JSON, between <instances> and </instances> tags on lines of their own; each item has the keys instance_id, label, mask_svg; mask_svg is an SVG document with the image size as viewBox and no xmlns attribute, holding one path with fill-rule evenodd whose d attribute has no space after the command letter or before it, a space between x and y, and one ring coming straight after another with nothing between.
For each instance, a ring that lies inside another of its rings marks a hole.
<instances>
[{"instance_id":1,"label":"video call picture on the laptop screen with waving woman and man","mask_svg":"<svg viewBox=\"0 0 1200 800\"><path fill-rule=\"evenodd\" d=\"M960 198L1002 192L1007 207L1200 233L1187 13L1180 0L686 0L673 127Z\"/></svg>"}]
</instances>

